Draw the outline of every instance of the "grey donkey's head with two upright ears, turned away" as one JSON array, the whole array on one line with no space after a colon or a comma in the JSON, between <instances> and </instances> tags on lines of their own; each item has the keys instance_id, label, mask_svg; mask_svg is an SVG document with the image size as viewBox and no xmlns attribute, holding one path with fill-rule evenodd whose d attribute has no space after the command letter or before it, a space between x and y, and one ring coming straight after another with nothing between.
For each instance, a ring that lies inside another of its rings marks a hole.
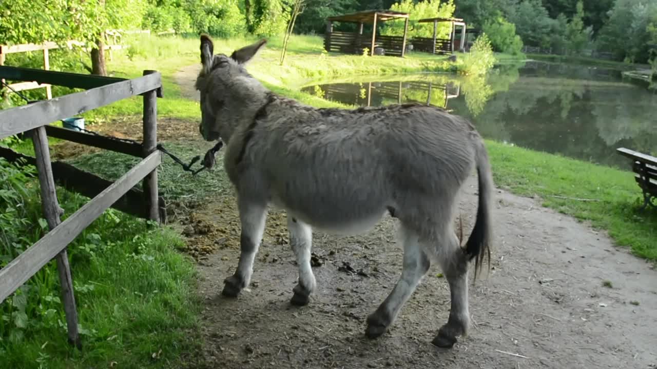
<instances>
[{"instance_id":1,"label":"grey donkey's head with two upright ears, turned away","mask_svg":"<svg viewBox=\"0 0 657 369\"><path fill-rule=\"evenodd\" d=\"M244 69L244 64L266 42L261 39L233 51L231 56L214 55L212 39L201 35L202 69L196 78L196 89L200 91L199 130L206 141L221 137L228 142L240 121L257 112L266 100L265 87Z\"/></svg>"}]
</instances>

